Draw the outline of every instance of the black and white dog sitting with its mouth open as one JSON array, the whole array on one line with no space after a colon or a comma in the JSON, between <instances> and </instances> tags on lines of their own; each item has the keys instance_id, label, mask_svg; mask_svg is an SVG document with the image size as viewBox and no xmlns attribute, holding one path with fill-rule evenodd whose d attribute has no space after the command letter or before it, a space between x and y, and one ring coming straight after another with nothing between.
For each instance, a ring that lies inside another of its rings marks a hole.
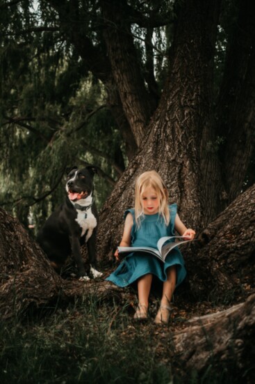
<instances>
[{"instance_id":1,"label":"black and white dog sitting with its mouth open","mask_svg":"<svg viewBox=\"0 0 255 384\"><path fill-rule=\"evenodd\" d=\"M68 171L65 202L52 213L38 233L38 243L49 257L51 265L60 270L67 257L73 254L78 275L84 280L89 279L81 257L81 245L84 243L88 247L91 275L102 275L96 269L98 214L93 198L95 172L94 167L73 167Z\"/></svg>"}]
</instances>

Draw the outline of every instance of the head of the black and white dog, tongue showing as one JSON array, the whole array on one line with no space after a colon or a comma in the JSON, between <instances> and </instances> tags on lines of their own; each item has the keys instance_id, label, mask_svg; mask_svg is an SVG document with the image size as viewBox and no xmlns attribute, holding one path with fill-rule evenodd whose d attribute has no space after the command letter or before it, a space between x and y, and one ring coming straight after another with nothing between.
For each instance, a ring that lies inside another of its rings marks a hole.
<instances>
[{"instance_id":1,"label":"head of the black and white dog, tongue showing","mask_svg":"<svg viewBox=\"0 0 255 384\"><path fill-rule=\"evenodd\" d=\"M97 173L95 167L85 167L78 169L73 167L67 170L67 183L65 189L69 200L75 202L77 200L86 199L93 192L93 178Z\"/></svg>"}]
</instances>

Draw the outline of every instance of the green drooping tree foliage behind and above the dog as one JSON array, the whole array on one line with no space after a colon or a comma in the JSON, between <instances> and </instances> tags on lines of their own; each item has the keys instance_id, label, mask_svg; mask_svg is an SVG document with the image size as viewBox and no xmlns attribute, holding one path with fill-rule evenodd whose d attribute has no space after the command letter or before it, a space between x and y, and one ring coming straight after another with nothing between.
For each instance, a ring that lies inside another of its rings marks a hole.
<instances>
[{"instance_id":1,"label":"green drooping tree foliage behind and above the dog","mask_svg":"<svg viewBox=\"0 0 255 384\"><path fill-rule=\"evenodd\" d=\"M52 10L33 10L28 1L1 15L0 201L24 224L28 213L37 224L45 220L63 199L67 166L94 164L113 183L118 177L111 163L120 133L105 108L104 86L59 32L19 33L39 28L45 15ZM112 184L98 177L95 183L101 206Z\"/></svg>"}]
</instances>

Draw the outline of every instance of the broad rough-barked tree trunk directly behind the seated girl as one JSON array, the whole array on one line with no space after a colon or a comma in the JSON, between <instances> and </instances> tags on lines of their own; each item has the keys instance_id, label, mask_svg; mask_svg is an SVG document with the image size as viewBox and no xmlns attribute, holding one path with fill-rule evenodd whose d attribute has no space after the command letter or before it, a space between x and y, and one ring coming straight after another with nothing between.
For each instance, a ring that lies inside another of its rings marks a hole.
<instances>
[{"instance_id":1,"label":"broad rough-barked tree trunk directly behind the seated girl","mask_svg":"<svg viewBox=\"0 0 255 384\"><path fill-rule=\"evenodd\" d=\"M135 177L142 171L155 169L161 174L188 226L202 228L220 212L220 168L215 153L206 151L206 142L213 140L215 132L210 117L211 66L218 4L199 1L198 7L197 3L181 2L170 75L147 127L149 136L101 210L101 259L111 256L120 243L123 213L133 206Z\"/></svg>"}]
</instances>

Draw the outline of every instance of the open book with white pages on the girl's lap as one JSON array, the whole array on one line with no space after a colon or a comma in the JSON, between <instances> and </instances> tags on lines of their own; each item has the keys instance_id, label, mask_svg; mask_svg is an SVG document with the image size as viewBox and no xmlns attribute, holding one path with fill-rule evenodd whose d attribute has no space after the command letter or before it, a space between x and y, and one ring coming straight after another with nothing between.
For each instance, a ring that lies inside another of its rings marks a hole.
<instances>
[{"instance_id":1,"label":"open book with white pages on the girl's lap","mask_svg":"<svg viewBox=\"0 0 255 384\"><path fill-rule=\"evenodd\" d=\"M172 249L175 247L179 247L184 243L189 243L193 240L185 240L183 236L165 236L160 238L157 243L157 249L151 247L117 247L120 256L124 256L125 254L129 254L131 252L147 252L149 254L153 254L158 257L163 263L165 263L165 258L167 254L169 254Z\"/></svg>"}]
</instances>

